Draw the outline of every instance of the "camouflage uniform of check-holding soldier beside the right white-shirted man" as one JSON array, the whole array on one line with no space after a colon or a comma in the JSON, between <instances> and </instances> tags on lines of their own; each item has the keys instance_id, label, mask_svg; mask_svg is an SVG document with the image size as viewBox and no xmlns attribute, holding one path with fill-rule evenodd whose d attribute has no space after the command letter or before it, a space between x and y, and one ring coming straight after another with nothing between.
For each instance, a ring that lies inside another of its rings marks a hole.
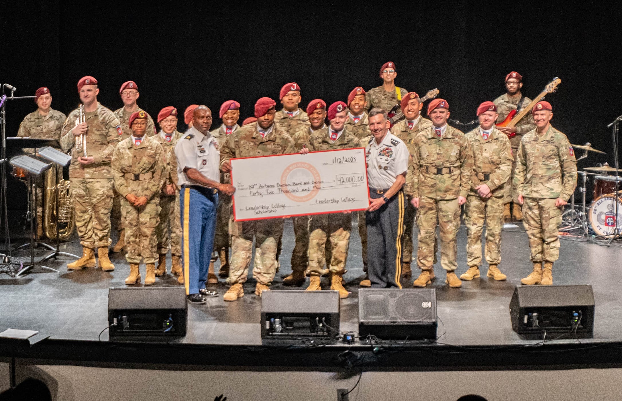
<instances>
[{"instance_id":1,"label":"camouflage uniform of check-holding soldier beside the right white-shirted man","mask_svg":"<svg viewBox=\"0 0 622 401\"><path fill-rule=\"evenodd\" d=\"M313 132L307 141L310 152L316 150L351 149L361 147L361 141L344 127L337 141L330 141L330 127ZM309 271L322 275L326 259L326 240L330 238L330 272L343 275L350 245L352 214L328 213L311 216L309 224Z\"/></svg>"}]
</instances>

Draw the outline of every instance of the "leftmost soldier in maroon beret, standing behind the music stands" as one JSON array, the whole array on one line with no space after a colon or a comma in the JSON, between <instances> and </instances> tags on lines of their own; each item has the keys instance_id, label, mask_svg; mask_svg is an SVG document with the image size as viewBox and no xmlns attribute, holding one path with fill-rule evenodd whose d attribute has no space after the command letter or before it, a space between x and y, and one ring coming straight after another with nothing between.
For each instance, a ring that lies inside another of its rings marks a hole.
<instances>
[{"instance_id":1,"label":"leftmost soldier in maroon beret, standing behind the music stands","mask_svg":"<svg viewBox=\"0 0 622 401\"><path fill-rule=\"evenodd\" d=\"M43 86L35 91L35 103L37 110L24 117L24 121L19 124L18 137L30 137L37 139L57 139L60 140L60 129L67 119L65 114L60 113L50 107L52 104L52 94L50 90ZM26 153L34 153L34 149L24 149ZM58 179L63 178L63 169L56 167ZM43 235L43 182L37 181L37 238Z\"/></svg>"}]
</instances>

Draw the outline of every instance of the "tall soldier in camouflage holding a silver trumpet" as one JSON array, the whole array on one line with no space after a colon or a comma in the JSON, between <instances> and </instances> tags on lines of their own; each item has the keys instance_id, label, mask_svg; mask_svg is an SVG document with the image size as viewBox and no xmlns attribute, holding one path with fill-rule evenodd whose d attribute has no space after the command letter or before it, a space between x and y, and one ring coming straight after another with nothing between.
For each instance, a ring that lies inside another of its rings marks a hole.
<instances>
[{"instance_id":1,"label":"tall soldier in camouflage holding a silver trumpet","mask_svg":"<svg viewBox=\"0 0 622 401\"><path fill-rule=\"evenodd\" d=\"M110 246L110 210L113 205L113 175L110 160L123 131L113 112L97 101L97 80L85 76L78 81L80 101L84 104L85 122L75 125L80 111L75 109L63 124L60 146L67 152L75 137L86 134L86 151L74 149L69 166L69 182L76 229L82 245L82 257L67 265L69 270L95 267L95 248L102 270L114 270L108 258Z\"/></svg>"}]
</instances>

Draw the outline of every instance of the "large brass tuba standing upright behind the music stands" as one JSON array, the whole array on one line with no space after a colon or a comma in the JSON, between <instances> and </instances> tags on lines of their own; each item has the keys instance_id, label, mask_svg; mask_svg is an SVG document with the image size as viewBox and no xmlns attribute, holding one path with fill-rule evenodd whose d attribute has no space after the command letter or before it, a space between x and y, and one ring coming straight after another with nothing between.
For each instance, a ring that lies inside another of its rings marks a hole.
<instances>
[{"instance_id":1,"label":"large brass tuba standing upright behind the music stands","mask_svg":"<svg viewBox=\"0 0 622 401\"><path fill-rule=\"evenodd\" d=\"M49 239L65 241L73 234L75 214L72 198L69 196L69 181L62 178L57 182L58 166L54 164L45 172L44 178L44 231ZM58 191L58 208L56 194ZM57 213L58 210L58 213Z\"/></svg>"}]
</instances>

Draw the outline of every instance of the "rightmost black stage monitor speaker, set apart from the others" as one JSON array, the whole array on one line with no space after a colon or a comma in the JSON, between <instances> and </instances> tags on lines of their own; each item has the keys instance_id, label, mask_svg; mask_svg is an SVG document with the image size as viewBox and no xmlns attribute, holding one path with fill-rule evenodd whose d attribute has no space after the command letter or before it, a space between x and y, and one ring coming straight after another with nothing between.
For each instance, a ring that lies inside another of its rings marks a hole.
<instances>
[{"instance_id":1,"label":"rightmost black stage monitor speaker, set apart from the others","mask_svg":"<svg viewBox=\"0 0 622 401\"><path fill-rule=\"evenodd\" d=\"M594 331L592 285L518 285L509 303L516 333Z\"/></svg>"}]
</instances>

